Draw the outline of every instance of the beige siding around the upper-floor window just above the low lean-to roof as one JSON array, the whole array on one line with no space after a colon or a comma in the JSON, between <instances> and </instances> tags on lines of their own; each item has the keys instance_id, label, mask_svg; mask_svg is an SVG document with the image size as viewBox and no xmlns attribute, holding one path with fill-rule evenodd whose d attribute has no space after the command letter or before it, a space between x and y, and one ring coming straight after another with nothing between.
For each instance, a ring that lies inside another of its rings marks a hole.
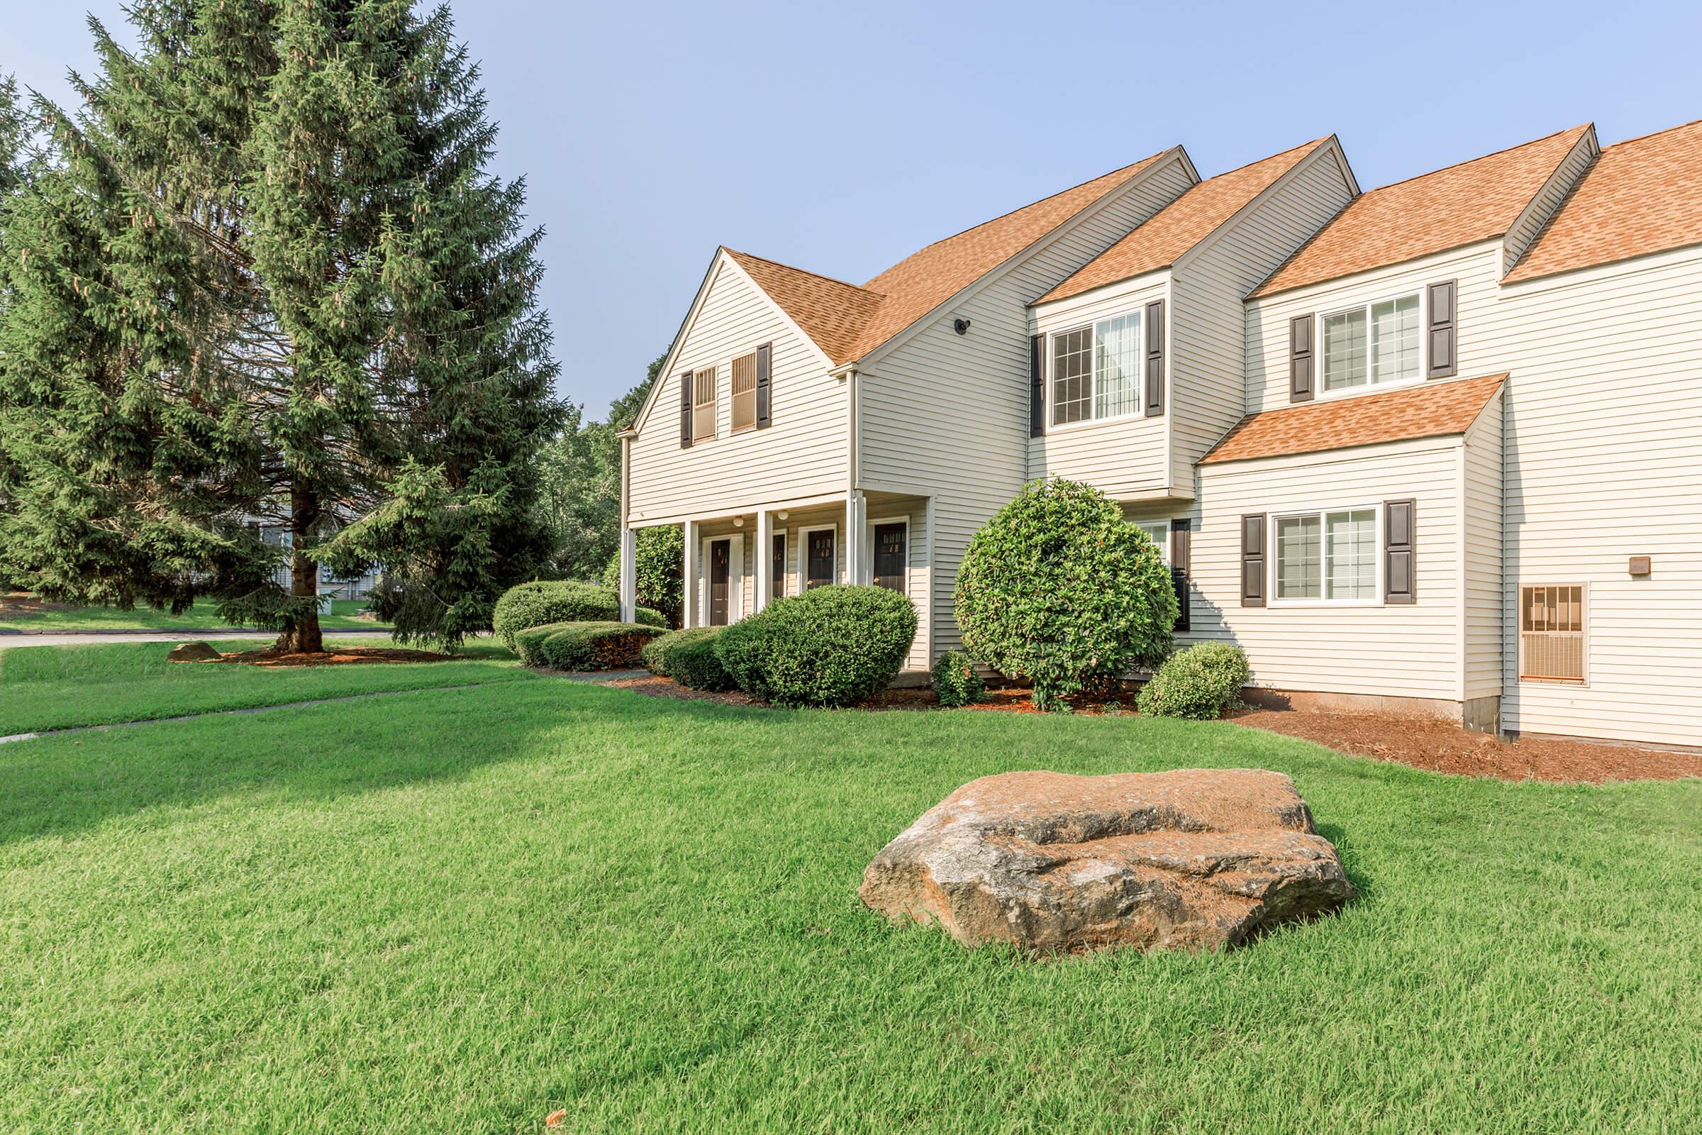
<instances>
[{"instance_id":1,"label":"beige siding around the upper-floor window just above the low lean-to roof","mask_svg":"<svg viewBox=\"0 0 1702 1135\"><path fill-rule=\"evenodd\" d=\"M1494 306L1501 274L1501 242L1482 242L1389 269L1360 272L1328 284L1278 293L1246 305L1246 378L1248 412L1278 410L1288 405L1288 320L1295 315L1321 315L1394 296L1425 294L1426 284L1457 279L1455 293L1455 371L1459 378L1477 378L1508 369L1508 361L1493 349L1486 334L1486 311ZM1419 303L1425 303L1419 299ZM1324 400L1322 339L1317 391ZM1358 393L1392 390L1365 386ZM1341 395L1353 396L1353 395Z\"/></svg>"}]
</instances>

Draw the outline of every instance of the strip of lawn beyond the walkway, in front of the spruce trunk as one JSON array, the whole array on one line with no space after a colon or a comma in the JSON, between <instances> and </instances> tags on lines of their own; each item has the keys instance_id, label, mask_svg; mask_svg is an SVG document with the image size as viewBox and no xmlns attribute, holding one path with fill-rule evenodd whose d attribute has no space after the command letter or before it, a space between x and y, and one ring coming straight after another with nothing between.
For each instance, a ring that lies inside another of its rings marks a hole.
<instances>
[{"instance_id":1,"label":"strip of lawn beyond the walkway, in front of the spruce trunk","mask_svg":"<svg viewBox=\"0 0 1702 1135\"><path fill-rule=\"evenodd\" d=\"M373 645L369 638L347 642ZM218 642L226 652L264 645ZM0 650L0 737L381 689L538 679L500 645L470 643L454 662L279 669L168 662L170 650L170 643Z\"/></svg>"}]
</instances>

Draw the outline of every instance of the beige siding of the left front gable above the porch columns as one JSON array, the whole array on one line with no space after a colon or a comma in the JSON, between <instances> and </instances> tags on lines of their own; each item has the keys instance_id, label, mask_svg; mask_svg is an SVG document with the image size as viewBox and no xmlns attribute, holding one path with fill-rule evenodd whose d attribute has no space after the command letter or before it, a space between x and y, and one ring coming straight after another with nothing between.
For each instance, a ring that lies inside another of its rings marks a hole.
<instances>
[{"instance_id":1,"label":"beige siding of the left front gable above the porch columns","mask_svg":"<svg viewBox=\"0 0 1702 1135\"><path fill-rule=\"evenodd\" d=\"M732 361L773 342L769 429L732 432ZM679 376L718 368L711 441L679 446ZM822 354L725 255L684 330L660 391L631 442L631 517L659 522L730 512L734 505L846 492L849 419L846 388Z\"/></svg>"}]
</instances>

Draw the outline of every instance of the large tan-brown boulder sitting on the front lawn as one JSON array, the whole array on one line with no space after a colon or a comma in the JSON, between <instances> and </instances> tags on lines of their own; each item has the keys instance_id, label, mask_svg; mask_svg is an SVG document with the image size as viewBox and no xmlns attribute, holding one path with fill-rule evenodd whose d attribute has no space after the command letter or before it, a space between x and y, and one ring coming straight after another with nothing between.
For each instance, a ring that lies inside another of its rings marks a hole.
<instances>
[{"instance_id":1,"label":"large tan-brown boulder sitting on the front lawn","mask_svg":"<svg viewBox=\"0 0 1702 1135\"><path fill-rule=\"evenodd\" d=\"M1004 773L887 844L863 902L965 946L1217 950L1341 907L1353 887L1282 773Z\"/></svg>"}]
</instances>

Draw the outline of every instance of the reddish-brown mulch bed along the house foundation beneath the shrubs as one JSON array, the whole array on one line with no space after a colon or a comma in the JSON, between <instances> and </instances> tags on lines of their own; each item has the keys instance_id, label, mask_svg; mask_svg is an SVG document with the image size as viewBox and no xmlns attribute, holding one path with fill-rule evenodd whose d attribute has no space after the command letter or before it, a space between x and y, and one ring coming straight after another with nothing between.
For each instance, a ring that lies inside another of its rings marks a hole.
<instances>
[{"instance_id":1,"label":"reddish-brown mulch bed along the house foundation beneath the shrubs","mask_svg":"<svg viewBox=\"0 0 1702 1135\"><path fill-rule=\"evenodd\" d=\"M686 689L669 677L626 677L608 682L618 689L631 689L650 698L679 698L683 701L718 701L727 706L762 706L764 703L742 693L711 694ZM1134 713L1135 698L1128 694L1111 713ZM938 710L934 691L888 689L860 710ZM1028 691L989 689L984 701L965 706L979 713L1038 713L1028 701ZM1094 701L1072 703L1076 713L1096 716L1106 713ZM1454 773L1459 776L1493 776L1503 781L1673 781L1682 776L1702 776L1702 754L1665 752L1656 749L1631 749L1583 740L1551 740L1527 737L1523 740L1498 740L1474 733L1436 718L1406 716L1399 713L1317 713L1311 710L1232 710L1225 721L1271 733L1299 737L1314 744L1374 761L1394 761L1414 769Z\"/></svg>"}]
</instances>

